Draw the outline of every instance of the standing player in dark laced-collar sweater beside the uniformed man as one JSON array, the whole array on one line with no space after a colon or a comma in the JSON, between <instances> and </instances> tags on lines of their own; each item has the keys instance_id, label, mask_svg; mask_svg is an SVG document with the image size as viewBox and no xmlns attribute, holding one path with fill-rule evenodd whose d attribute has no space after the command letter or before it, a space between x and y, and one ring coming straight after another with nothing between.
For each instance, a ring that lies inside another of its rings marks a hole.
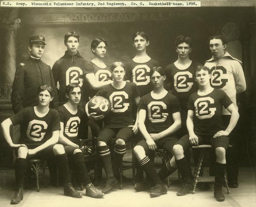
<instances>
[{"instance_id":1,"label":"standing player in dark laced-collar sweater beside the uniformed man","mask_svg":"<svg viewBox=\"0 0 256 207\"><path fill-rule=\"evenodd\" d=\"M70 83L77 83L82 88L81 102L87 102L87 90L84 88L84 67L87 61L78 51L79 34L75 31L68 32L64 36L64 44L67 47L67 51L52 67L55 85L59 82L59 101L61 104L66 103L66 86Z\"/></svg>"}]
</instances>

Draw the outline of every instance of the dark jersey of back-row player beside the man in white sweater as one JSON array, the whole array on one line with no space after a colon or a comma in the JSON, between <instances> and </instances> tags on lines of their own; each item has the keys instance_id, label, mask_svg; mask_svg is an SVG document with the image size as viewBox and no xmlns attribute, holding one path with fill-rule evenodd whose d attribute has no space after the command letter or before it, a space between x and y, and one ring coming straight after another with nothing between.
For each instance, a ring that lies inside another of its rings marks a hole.
<instances>
[{"instance_id":1,"label":"dark jersey of back-row player beside the man in white sweater","mask_svg":"<svg viewBox=\"0 0 256 207\"><path fill-rule=\"evenodd\" d=\"M167 82L171 82L172 92L180 101L180 108L187 111L189 96L198 90L198 84L193 77L194 69L201 65L193 62L185 70L178 69L174 63L166 66Z\"/></svg>"}]
</instances>

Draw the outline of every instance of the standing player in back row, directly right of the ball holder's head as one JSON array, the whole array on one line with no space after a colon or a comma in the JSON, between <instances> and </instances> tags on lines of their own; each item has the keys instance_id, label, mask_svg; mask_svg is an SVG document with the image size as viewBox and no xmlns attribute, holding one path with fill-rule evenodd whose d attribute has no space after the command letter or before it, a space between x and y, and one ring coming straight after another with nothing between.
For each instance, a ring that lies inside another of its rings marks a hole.
<instances>
[{"instance_id":1,"label":"standing player in back row, directly right of the ball holder's head","mask_svg":"<svg viewBox=\"0 0 256 207\"><path fill-rule=\"evenodd\" d=\"M125 77L128 82L134 82L139 89L140 96L144 96L152 91L152 85L150 82L150 75L152 74L152 68L159 65L158 62L147 54L147 47L149 45L149 38L143 31L137 31L132 36L132 45L136 49L136 55L132 60L128 60L125 63ZM137 106L133 106L133 117L136 118ZM135 139L139 141L141 134L138 133ZM136 164L137 165L137 164ZM136 180L143 180L143 170L136 166Z\"/></svg>"}]
</instances>

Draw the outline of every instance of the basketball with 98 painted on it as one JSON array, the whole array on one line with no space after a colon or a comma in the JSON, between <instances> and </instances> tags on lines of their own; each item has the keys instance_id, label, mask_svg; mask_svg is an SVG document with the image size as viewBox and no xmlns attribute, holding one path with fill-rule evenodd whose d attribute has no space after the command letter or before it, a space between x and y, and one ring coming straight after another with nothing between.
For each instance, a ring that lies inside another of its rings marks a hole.
<instances>
[{"instance_id":1,"label":"basketball with 98 painted on it","mask_svg":"<svg viewBox=\"0 0 256 207\"><path fill-rule=\"evenodd\" d=\"M96 112L96 116L99 115L107 115L110 111L110 103L108 99L105 99L102 96L94 96L90 99L88 103L88 112L93 113Z\"/></svg>"}]
</instances>

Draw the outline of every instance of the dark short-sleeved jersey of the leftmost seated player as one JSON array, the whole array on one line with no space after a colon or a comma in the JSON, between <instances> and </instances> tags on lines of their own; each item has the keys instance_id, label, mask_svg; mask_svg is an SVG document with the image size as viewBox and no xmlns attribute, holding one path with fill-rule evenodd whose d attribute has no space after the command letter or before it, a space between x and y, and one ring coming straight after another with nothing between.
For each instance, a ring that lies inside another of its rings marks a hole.
<instances>
[{"instance_id":1,"label":"dark short-sleeved jersey of the leftmost seated player","mask_svg":"<svg viewBox=\"0 0 256 207\"><path fill-rule=\"evenodd\" d=\"M61 129L58 111L51 108L44 117L38 117L34 107L26 107L10 119L13 125L20 124L20 144L41 145L51 138L53 131Z\"/></svg>"}]
</instances>

